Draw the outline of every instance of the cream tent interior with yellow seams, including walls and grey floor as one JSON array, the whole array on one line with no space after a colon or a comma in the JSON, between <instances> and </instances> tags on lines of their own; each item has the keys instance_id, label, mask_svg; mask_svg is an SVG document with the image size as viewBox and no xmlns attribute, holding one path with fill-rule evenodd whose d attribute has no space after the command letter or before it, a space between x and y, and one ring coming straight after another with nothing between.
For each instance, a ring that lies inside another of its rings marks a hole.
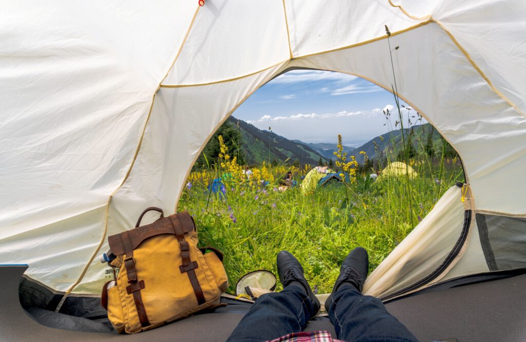
<instances>
[{"instance_id":1,"label":"cream tent interior with yellow seams, including walls and grey floor","mask_svg":"<svg viewBox=\"0 0 526 342\"><path fill-rule=\"evenodd\" d=\"M283 72L338 71L391 91L388 25L403 46L398 95L458 152L466 183L438 200L363 293L420 340L524 340L522 1L6 6L2 338L225 340L250 307L227 294L226 307L113 333L99 308L107 266L96 256L147 206L176 212L211 134ZM307 329L334 336L323 316Z\"/></svg>"}]
</instances>

